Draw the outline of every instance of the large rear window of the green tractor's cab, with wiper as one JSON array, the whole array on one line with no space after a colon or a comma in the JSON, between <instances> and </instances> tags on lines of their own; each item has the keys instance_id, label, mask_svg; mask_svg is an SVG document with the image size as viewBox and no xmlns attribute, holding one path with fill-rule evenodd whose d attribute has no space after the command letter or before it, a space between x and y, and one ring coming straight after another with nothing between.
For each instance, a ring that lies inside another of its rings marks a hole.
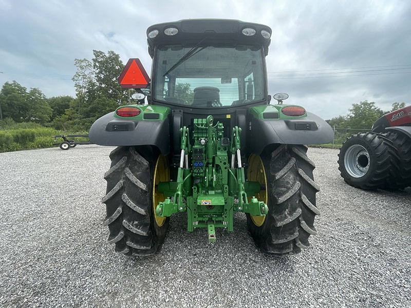
<instances>
[{"instance_id":1,"label":"large rear window of the green tractor's cab, with wiper","mask_svg":"<svg viewBox=\"0 0 411 308\"><path fill-rule=\"evenodd\" d=\"M158 48L153 68L153 103L221 108L266 100L261 47L203 44Z\"/></svg>"}]
</instances>

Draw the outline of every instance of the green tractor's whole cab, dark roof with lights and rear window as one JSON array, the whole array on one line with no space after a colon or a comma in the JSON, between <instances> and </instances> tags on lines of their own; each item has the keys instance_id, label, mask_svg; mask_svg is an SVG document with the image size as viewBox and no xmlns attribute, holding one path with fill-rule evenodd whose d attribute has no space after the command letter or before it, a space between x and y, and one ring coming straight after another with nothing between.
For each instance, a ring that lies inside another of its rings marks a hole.
<instances>
[{"instance_id":1,"label":"green tractor's whole cab, dark roof with lights and rear window","mask_svg":"<svg viewBox=\"0 0 411 308\"><path fill-rule=\"evenodd\" d=\"M210 108L266 103L264 58L270 36L266 26L232 20L185 20L148 28L151 103L209 113L217 111Z\"/></svg>"}]
</instances>

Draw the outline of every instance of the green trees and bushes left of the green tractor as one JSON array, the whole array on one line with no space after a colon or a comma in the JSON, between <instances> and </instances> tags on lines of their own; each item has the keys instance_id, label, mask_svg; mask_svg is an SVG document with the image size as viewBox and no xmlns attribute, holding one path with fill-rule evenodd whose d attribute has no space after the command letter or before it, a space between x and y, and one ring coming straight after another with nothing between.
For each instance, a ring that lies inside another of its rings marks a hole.
<instances>
[{"instance_id":1,"label":"green trees and bushes left of the green tractor","mask_svg":"<svg viewBox=\"0 0 411 308\"><path fill-rule=\"evenodd\" d=\"M0 91L1 118L64 131L84 131L102 115L126 104L127 93L117 82L124 68L120 55L99 50L93 50L93 54L91 61L74 60L75 98L68 95L46 98L38 88L27 90L16 81L6 82Z\"/></svg>"}]
</instances>

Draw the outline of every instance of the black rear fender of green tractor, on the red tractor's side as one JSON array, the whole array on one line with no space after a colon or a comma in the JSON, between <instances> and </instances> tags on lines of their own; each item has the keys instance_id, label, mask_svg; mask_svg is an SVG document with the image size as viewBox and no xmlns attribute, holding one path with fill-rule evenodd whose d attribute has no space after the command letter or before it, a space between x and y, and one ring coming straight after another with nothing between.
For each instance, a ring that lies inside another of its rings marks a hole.
<instances>
[{"instance_id":1,"label":"black rear fender of green tractor, on the red tractor's side","mask_svg":"<svg viewBox=\"0 0 411 308\"><path fill-rule=\"evenodd\" d=\"M250 128L250 150L258 155L270 144L324 144L334 137L331 126L311 112L307 112L307 117L298 119L252 117Z\"/></svg>"}]
</instances>

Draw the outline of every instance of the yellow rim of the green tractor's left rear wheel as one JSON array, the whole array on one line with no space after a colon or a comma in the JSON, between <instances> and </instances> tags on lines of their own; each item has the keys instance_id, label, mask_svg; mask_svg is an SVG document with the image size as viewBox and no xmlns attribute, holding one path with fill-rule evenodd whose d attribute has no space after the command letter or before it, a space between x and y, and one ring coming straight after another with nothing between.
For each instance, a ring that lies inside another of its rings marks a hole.
<instances>
[{"instance_id":1,"label":"yellow rim of the green tractor's left rear wheel","mask_svg":"<svg viewBox=\"0 0 411 308\"><path fill-rule=\"evenodd\" d=\"M153 210L154 210L154 217L156 219L156 223L159 227L161 227L165 222L165 217L159 217L156 215L156 207L159 202L165 200L163 194L158 192L157 187L159 182L168 182L170 181L170 169L169 169L169 162L165 156L159 155L156 167L154 168L154 180L153 180Z\"/></svg>"}]
</instances>

